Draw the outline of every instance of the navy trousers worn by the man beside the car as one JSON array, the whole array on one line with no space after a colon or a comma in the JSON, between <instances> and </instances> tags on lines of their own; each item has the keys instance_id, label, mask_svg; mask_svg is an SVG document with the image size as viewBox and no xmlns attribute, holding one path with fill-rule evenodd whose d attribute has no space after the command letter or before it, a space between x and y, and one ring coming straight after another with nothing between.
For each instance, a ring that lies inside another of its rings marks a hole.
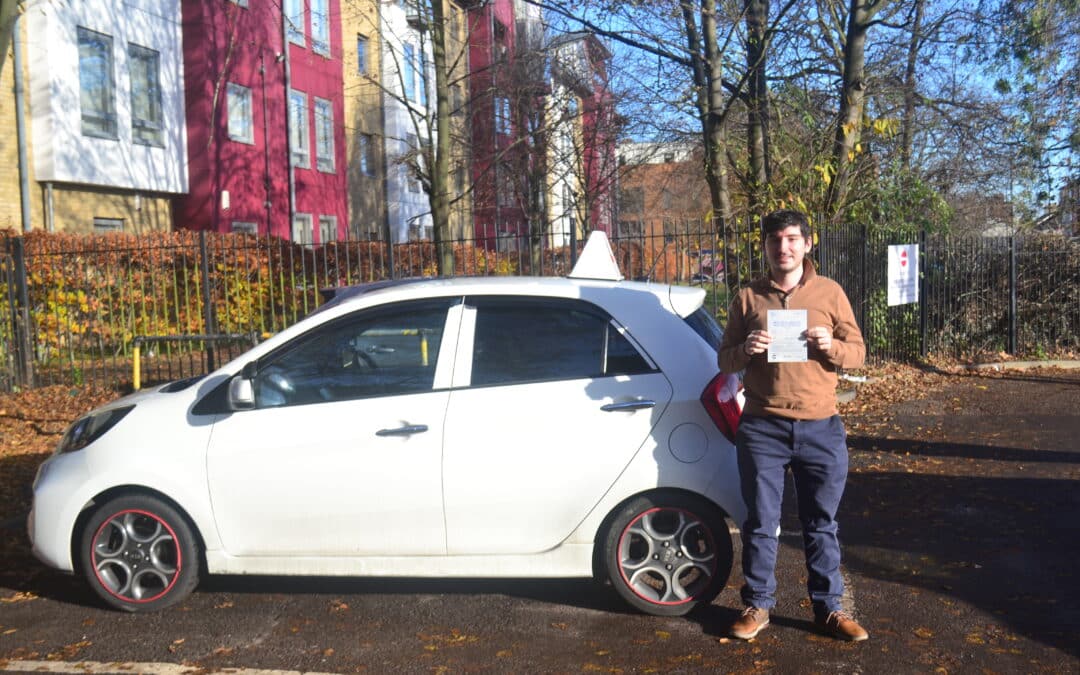
<instances>
[{"instance_id":1,"label":"navy trousers worn by the man beside the car","mask_svg":"<svg viewBox=\"0 0 1080 675\"><path fill-rule=\"evenodd\" d=\"M791 467L802 524L807 590L814 613L840 609L840 542L836 511L848 480L848 444L838 415L820 420L744 415L735 436L747 517L742 528L742 599L771 609L784 471Z\"/></svg>"}]
</instances>

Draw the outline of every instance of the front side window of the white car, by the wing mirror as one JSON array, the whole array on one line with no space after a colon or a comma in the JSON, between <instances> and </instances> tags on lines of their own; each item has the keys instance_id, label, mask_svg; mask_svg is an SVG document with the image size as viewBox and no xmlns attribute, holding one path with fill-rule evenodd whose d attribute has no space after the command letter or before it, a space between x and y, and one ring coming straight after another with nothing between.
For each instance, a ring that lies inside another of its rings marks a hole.
<instances>
[{"instance_id":1,"label":"front side window of the white car, by the wing mirror","mask_svg":"<svg viewBox=\"0 0 1080 675\"><path fill-rule=\"evenodd\" d=\"M363 310L313 329L259 362L257 407L430 391L454 300Z\"/></svg>"}]
</instances>

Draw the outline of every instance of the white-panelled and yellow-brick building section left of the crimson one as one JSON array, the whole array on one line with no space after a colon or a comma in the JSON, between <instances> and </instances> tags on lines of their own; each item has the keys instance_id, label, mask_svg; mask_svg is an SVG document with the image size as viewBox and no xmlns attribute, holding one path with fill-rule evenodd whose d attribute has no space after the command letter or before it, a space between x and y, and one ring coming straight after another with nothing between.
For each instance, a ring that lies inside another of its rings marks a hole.
<instances>
[{"instance_id":1,"label":"white-panelled and yellow-brick building section left of the crimson one","mask_svg":"<svg viewBox=\"0 0 1080 675\"><path fill-rule=\"evenodd\" d=\"M25 9L0 70L0 125L10 130L0 135L0 228L172 229L171 199L187 190L184 110L165 81L183 77L178 18L162 18L146 0L119 15L106 0L29 0ZM143 48L148 32L158 38ZM111 67L111 81L94 91L79 77L87 53ZM162 95L149 120L136 110L147 79ZM87 97L102 109L89 111Z\"/></svg>"}]
</instances>

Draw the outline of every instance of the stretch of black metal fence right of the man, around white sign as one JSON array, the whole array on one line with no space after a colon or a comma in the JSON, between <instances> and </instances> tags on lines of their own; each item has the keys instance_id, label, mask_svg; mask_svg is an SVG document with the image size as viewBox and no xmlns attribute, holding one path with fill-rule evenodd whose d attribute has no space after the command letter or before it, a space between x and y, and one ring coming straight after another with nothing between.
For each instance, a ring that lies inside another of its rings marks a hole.
<instances>
[{"instance_id":1,"label":"stretch of black metal fence right of the man, around white sign","mask_svg":"<svg viewBox=\"0 0 1080 675\"><path fill-rule=\"evenodd\" d=\"M919 301L889 307L888 248L919 245ZM1041 359L1080 349L1080 242L829 229L824 274L847 291L872 361Z\"/></svg>"}]
</instances>

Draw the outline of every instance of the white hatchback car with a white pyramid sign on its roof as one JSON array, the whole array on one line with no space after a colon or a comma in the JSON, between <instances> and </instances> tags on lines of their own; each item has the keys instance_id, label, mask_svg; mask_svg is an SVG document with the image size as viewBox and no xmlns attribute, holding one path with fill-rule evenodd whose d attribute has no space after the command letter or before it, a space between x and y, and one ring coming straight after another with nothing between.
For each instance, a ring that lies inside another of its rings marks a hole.
<instances>
[{"instance_id":1,"label":"white hatchback car with a white pyramid sign on its roof","mask_svg":"<svg viewBox=\"0 0 1080 675\"><path fill-rule=\"evenodd\" d=\"M131 611L202 572L596 576L650 613L711 602L744 516L720 330L701 288L581 279L605 275L590 247L567 279L351 287L87 414L38 472L35 554Z\"/></svg>"}]
</instances>

